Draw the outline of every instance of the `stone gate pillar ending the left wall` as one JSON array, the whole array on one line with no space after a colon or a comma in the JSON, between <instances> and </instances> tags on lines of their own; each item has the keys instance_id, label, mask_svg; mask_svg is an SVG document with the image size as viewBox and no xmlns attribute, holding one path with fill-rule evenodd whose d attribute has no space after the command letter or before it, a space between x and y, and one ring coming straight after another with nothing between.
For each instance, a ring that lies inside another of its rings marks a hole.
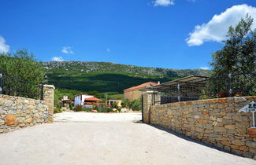
<instances>
[{"instance_id":1,"label":"stone gate pillar ending the left wall","mask_svg":"<svg viewBox=\"0 0 256 165\"><path fill-rule=\"evenodd\" d=\"M53 85L44 85L43 86L43 101L44 105L48 107L49 115L47 123L54 122L54 90Z\"/></svg>"}]
</instances>

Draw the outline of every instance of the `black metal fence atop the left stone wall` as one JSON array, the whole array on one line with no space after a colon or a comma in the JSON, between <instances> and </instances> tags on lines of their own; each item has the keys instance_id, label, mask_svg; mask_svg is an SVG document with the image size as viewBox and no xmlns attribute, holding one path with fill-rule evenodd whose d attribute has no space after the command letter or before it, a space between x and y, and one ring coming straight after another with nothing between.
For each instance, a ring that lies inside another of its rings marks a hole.
<instances>
[{"instance_id":1,"label":"black metal fence atop the left stone wall","mask_svg":"<svg viewBox=\"0 0 256 165\"><path fill-rule=\"evenodd\" d=\"M43 100L43 83L32 83L0 72L0 94Z\"/></svg>"}]
</instances>

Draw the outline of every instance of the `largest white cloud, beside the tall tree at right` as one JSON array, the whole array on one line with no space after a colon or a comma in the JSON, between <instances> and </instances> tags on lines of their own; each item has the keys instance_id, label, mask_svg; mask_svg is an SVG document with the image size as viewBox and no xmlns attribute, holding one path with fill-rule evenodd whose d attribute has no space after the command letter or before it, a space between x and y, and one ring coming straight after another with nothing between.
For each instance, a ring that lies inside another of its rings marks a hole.
<instances>
[{"instance_id":1,"label":"largest white cloud, beside the tall tree at right","mask_svg":"<svg viewBox=\"0 0 256 165\"><path fill-rule=\"evenodd\" d=\"M246 4L232 6L226 9L224 13L214 15L206 24L195 26L193 32L186 39L188 46L200 46L204 42L215 41L221 42L225 39L229 26L236 26L241 18L249 15L254 18L252 28L256 27L256 8Z\"/></svg>"}]
</instances>

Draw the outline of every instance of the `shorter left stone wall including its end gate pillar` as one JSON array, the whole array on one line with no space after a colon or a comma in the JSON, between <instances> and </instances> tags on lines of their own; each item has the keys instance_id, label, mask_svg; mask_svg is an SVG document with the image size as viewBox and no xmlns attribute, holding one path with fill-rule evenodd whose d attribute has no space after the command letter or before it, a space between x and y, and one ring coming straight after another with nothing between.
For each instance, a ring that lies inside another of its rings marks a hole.
<instances>
[{"instance_id":1,"label":"shorter left stone wall including its end gate pillar","mask_svg":"<svg viewBox=\"0 0 256 165\"><path fill-rule=\"evenodd\" d=\"M54 86L44 86L44 100L0 94L0 133L37 123L52 123Z\"/></svg>"}]
</instances>

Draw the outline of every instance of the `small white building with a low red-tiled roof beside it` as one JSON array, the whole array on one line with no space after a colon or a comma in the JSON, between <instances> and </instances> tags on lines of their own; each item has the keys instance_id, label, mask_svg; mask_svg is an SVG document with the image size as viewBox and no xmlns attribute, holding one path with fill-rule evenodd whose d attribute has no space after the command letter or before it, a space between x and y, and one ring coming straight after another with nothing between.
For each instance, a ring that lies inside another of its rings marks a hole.
<instances>
[{"instance_id":1,"label":"small white building with a low red-tiled roof beside it","mask_svg":"<svg viewBox=\"0 0 256 165\"><path fill-rule=\"evenodd\" d=\"M79 94L75 96L75 106L76 105L85 105L85 108L92 108L94 104L98 104L98 102L102 101L92 95L87 94Z\"/></svg>"}]
</instances>

